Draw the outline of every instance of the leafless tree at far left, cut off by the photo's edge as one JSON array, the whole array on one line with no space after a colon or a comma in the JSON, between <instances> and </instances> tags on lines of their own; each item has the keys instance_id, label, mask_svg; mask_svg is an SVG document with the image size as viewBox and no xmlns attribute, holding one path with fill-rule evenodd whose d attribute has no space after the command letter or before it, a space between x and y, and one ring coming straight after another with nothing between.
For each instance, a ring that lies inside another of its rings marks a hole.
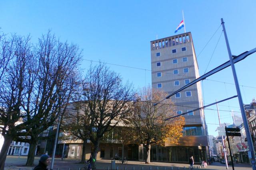
<instances>
[{"instance_id":1,"label":"leafless tree at far left, cut off by the photo's edge","mask_svg":"<svg viewBox=\"0 0 256 170\"><path fill-rule=\"evenodd\" d=\"M29 41L29 36L17 35L0 41L0 129L4 137L0 151L0 170L4 170L7 151L16 132L22 130L17 123L24 118L21 106L26 96L26 70L32 58Z\"/></svg>"}]
</instances>

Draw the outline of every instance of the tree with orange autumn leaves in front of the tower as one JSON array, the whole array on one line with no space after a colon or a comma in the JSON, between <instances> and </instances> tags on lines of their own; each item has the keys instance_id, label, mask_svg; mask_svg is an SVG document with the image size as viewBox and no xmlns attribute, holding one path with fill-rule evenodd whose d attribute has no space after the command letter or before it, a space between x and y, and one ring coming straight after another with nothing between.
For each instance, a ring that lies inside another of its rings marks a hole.
<instances>
[{"instance_id":1,"label":"tree with orange autumn leaves in front of the tower","mask_svg":"<svg viewBox=\"0 0 256 170\"><path fill-rule=\"evenodd\" d=\"M152 144L164 145L166 140L170 143L178 143L179 138L182 137L184 117L166 120L175 113L170 99L160 103L165 96L166 93L152 89L150 86L142 88L134 102L134 110L128 117L128 129L125 133L129 135L126 135L126 140L143 144L147 150L145 162L147 164L150 163ZM154 106L154 103L158 104Z\"/></svg>"}]
</instances>

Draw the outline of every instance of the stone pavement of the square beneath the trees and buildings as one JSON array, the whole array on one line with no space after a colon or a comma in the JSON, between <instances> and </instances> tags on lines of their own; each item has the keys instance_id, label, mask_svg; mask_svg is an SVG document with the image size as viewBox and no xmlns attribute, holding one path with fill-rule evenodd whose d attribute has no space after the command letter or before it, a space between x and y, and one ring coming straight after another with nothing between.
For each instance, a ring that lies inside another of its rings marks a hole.
<instances>
[{"instance_id":1,"label":"stone pavement of the square beneath the trees and buildings","mask_svg":"<svg viewBox=\"0 0 256 170\"><path fill-rule=\"evenodd\" d=\"M34 164L38 164L39 157L35 158ZM111 160L97 160L96 168L98 170L108 170L111 168ZM34 166L24 166L26 164L26 157L21 156L7 156L5 170L32 170ZM60 160L60 158L55 158L54 160L54 170L79 170L79 168L83 167L83 164L79 164L79 160L77 159L65 159L64 161ZM118 170L188 170L188 164L175 164L168 162L152 162L151 164L144 164L141 161L128 161L128 164L118 164L116 162L116 169ZM195 165L195 170L200 169L199 165ZM50 168L48 166L48 168ZM219 162L214 162L207 168L203 168L207 170L226 170L226 166L224 164L220 164ZM232 166L228 167L229 170L232 170ZM235 164L235 170L251 170L250 164Z\"/></svg>"}]
</instances>

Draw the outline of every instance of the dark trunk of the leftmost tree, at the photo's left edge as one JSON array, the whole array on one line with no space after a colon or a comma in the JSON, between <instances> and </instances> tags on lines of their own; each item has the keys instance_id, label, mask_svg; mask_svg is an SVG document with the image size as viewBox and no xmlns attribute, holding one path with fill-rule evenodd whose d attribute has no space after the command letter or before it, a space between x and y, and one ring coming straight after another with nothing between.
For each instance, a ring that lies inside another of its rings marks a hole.
<instances>
[{"instance_id":1,"label":"dark trunk of the leftmost tree, at the photo's left edge","mask_svg":"<svg viewBox=\"0 0 256 170\"><path fill-rule=\"evenodd\" d=\"M0 170L4 170L4 162L6 160L6 156L7 156L7 152L10 147L10 144L12 143L11 137L8 137L7 135L3 137L4 137L4 144L0 152Z\"/></svg>"}]
</instances>

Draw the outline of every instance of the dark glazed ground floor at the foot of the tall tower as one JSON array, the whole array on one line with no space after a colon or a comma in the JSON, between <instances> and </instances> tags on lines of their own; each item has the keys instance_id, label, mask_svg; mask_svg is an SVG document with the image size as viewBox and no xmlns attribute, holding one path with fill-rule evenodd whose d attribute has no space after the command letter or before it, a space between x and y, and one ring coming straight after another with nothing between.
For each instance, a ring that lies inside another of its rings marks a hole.
<instances>
[{"instance_id":1,"label":"dark glazed ground floor at the foot of the tall tower","mask_svg":"<svg viewBox=\"0 0 256 170\"><path fill-rule=\"evenodd\" d=\"M142 146L139 147L139 160L146 160L147 152ZM206 160L206 147L199 150L198 147L151 147L150 160L162 162L188 162L193 156L194 162Z\"/></svg>"}]
</instances>

